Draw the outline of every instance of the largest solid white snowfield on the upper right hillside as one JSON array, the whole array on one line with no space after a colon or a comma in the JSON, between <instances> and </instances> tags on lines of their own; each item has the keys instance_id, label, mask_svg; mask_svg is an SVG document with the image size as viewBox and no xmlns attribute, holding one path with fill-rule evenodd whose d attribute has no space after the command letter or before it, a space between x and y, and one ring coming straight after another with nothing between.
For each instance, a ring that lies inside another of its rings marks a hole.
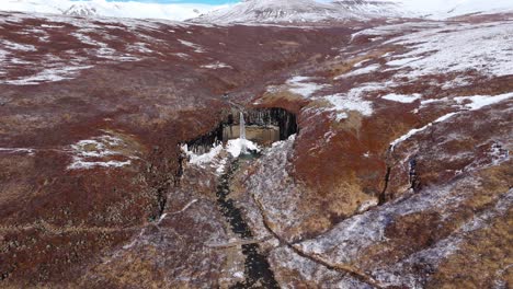
<instances>
[{"instance_id":1,"label":"largest solid white snowfield on the upper right hillside","mask_svg":"<svg viewBox=\"0 0 513 289\"><path fill-rule=\"evenodd\" d=\"M425 28L388 42L410 51L387 65L404 70L396 77L478 70L481 74L513 74L513 23L497 22Z\"/></svg>"}]
</instances>

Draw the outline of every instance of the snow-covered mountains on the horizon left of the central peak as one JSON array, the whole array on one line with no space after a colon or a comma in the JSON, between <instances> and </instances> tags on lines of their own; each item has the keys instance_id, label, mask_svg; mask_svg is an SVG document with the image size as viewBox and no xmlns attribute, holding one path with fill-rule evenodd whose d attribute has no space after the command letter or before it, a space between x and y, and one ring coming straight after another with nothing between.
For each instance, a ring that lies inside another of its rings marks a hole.
<instances>
[{"instance_id":1,"label":"snow-covered mountains on the horizon left of the central peak","mask_svg":"<svg viewBox=\"0 0 513 289\"><path fill-rule=\"evenodd\" d=\"M113 16L135 19L185 20L223 5L197 3L107 2L105 0L2 0L0 10L54 13L75 16Z\"/></svg>"}]
</instances>

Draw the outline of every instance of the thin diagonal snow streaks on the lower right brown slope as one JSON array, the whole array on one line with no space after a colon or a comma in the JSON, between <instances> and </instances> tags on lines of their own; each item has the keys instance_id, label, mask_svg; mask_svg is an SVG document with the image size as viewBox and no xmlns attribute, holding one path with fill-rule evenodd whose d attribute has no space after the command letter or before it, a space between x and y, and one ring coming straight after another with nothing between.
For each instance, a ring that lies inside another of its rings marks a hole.
<instances>
[{"instance_id":1,"label":"thin diagonal snow streaks on the lower right brown slope","mask_svg":"<svg viewBox=\"0 0 513 289\"><path fill-rule=\"evenodd\" d=\"M461 180L459 184L452 184L441 188L429 188L415 195L401 197L381 206L379 210L369 210L365 213L346 219L337 224L329 232L312 240L305 241L298 244L298 246L308 254L322 256L322 258L329 261L331 264L354 264L366 248L386 241L385 229L394 219L430 209L440 210L443 216L451 215L464 199L469 197L466 189L455 189L455 186L479 186L479 183L474 177L467 177ZM501 199L498 199L498 207L511 207L513 200L512 196L513 190L503 195ZM459 233L481 228L479 224L475 226L476 221L489 213L502 215L503 210L495 208L491 211L483 212L481 216L477 216L457 230L456 234L460 235ZM433 251L430 251L430 248L425 252L415 253L411 258L417 262L422 262L421 255L425 255L431 258L430 262L437 262L454 252L452 246L457 246L457 242L453 241L455 240L449 236L446 241L443 240L435 245ZM404 266L404 269L408 268L411 267ZM383 269L385 271L394 270L394 268ZM375 271L373 275L383 276L384 273ZM381 278L379 278L379 280L385 281Z\"/></svg>"}]
</instances>

